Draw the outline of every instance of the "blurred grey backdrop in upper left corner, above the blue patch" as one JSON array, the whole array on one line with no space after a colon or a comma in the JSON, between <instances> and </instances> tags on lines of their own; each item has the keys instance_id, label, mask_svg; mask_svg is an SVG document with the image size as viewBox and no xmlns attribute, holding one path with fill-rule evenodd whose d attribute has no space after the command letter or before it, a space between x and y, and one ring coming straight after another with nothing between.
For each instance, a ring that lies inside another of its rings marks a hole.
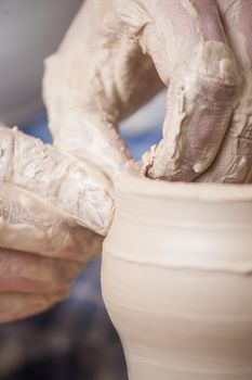
<instances>
[{"instance_id":1,"label":"blurred grey backdrop in upper left corner, above the blue patch","mask_svg":"<svg viewBox=\"0 0 252 380\"><path fill-rule=\"evenodd\" d=\"M0 0L0 119L42 110L43 59L55 51L82 0Z\"/></svg>"}]
</instances>

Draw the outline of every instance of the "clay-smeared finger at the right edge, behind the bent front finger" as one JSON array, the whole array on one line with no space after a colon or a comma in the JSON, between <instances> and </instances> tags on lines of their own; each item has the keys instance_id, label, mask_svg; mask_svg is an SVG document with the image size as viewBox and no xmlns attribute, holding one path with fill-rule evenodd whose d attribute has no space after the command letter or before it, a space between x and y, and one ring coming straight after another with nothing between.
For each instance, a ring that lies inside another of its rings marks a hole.
<instances>
[{"instance_id":1,"label":"clay-smeared finger at the right edge, behind the bent front finger","mask_svg":"<svg viewBox=\"0 0 252 380\"><path fill-rule=\"evenodd\" d=\"M252 3L218 1L223 25L242 73L240 100L213 166L200 181L250 182L252 180Z\"/></svg>"}]
</instances>

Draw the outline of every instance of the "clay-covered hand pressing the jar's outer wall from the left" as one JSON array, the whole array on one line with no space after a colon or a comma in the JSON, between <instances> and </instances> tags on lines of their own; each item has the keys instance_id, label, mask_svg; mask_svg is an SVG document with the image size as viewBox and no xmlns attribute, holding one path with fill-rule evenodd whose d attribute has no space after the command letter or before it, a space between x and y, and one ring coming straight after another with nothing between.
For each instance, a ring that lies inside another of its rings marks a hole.
<instances>
[{"instance_id":1,"label":"clay-covered hand pressing the jar's outer wall from the left","mask_svg":"<svg viewBox=\"0 0 252 380\"><path fill-rule=\"evenodd\" d=\"M63 299L101 253L114 210L109 179L90 163L0 127L0 322Z\"/></svg>"}]
</instances>

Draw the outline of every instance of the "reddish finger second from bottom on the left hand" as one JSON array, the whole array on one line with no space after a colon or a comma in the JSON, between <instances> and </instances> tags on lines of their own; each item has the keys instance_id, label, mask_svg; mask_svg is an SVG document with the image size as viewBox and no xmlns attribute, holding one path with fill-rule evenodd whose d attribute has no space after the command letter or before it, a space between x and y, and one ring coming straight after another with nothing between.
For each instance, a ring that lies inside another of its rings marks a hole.
<instances>
[{"instance_id":1,"label":"reddish finger second from bottom on the left hand","mask_svg":"<svg viewBox=\"0 0 252 380\"><path fill-rule=\"evenodd\" d=\"M0 293L66 292L82 265L0 249Z\"/></svg>"}]
</instances>

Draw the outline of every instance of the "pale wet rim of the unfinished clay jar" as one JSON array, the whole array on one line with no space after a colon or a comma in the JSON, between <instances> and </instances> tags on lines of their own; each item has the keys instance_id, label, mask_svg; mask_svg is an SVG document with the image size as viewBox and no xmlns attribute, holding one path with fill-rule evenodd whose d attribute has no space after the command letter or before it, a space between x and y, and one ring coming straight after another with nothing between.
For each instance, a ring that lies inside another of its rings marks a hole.
<instances>
[{"instance_id":1,"label":"pale wet rim of the unfinished clay jar","mask_svg":"<svg viewBox=\"0 0 252 380\"><path fill-rule=\"evenodd\" d=\"M168 182L140 174L140 166L128 162L117 179L117 190L135 195L209 202L252 201L252 183Z\"/></svg>"}]
</instances>

